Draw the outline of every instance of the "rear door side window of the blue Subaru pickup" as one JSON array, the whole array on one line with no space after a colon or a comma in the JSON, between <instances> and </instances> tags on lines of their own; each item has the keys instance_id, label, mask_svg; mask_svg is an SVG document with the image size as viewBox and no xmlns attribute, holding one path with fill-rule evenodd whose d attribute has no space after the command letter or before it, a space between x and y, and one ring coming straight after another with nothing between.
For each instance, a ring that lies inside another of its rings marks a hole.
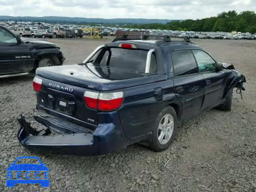
<instances>
[{"instance_id":1,"label":"rear door side window of the blue Subaru pickup","mask_svg":"<svg viewBox=\"0 0 256 192\"><path fill-rule=\"evenodd\" d=\"M196 60L191 50L172 52L173 70L175 76L198 73Z\"/></svg>"}]
</instances>

